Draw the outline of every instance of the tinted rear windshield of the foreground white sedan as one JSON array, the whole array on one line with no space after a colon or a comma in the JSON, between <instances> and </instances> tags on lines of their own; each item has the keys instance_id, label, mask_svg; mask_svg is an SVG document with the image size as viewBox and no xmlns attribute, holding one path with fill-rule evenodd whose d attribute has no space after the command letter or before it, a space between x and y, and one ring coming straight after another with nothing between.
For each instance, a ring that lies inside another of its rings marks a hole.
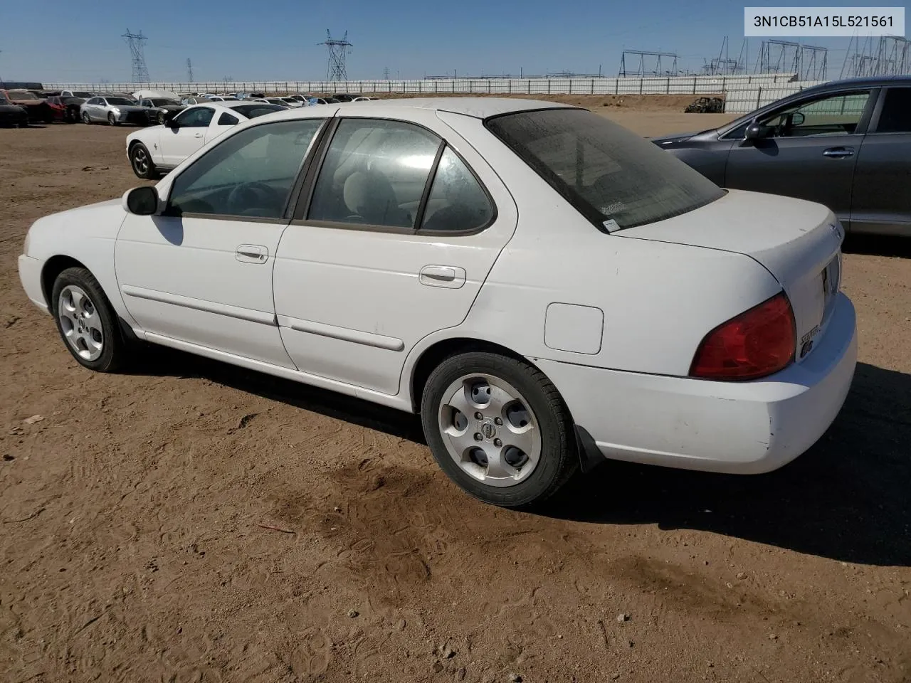
<instances>
[{"instance_id":1,"label":"tinted rear windshield of the foreground white sedan","mask_svg":"<svg viewBox=\"0 0 911 683\"><path fill-rule=\"evenodd\" d=\"M486 127L599 229L670 219L724 196L668 152L585 109L507 114Z\"/></svg>"}]
</instances>

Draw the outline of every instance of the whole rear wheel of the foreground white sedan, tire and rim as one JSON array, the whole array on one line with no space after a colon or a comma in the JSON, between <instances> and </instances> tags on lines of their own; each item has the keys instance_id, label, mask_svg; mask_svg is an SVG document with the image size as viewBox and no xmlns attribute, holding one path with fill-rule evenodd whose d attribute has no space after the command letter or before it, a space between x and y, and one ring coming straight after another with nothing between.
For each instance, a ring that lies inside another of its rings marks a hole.
<instances>
[{"instance_id":1,"label":"whole rear wheel of the foreground white sedan, tire and rim","mask_svg":"<svg viewBox=\"0 0 911 683\"><path fill-rule=\"evenodd\" d=\"M542 503L578 467L557 388L514 358L467 352L445 359L427 379L421 422L445 474L491 505Z\"/></svg>"}]
</instances>

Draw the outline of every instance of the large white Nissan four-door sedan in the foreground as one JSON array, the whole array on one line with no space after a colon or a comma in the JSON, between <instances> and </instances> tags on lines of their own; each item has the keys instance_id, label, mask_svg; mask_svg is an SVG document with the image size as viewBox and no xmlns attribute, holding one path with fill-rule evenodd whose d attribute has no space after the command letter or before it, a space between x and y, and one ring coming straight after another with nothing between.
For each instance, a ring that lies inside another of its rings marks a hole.
<instances>
[{"instance_id":1,"label":"large white Nissan four-door sedan in the foreground","mask_svg":"<svg viewBox=\"0 0 911 683\"><path fill-rule=\"evenodd\" d=\"M19 273L88 369L153 342L420 413L456 484L518 506L605 458L802 454L855 371L843 236L583 108L388 100L241 122L38 219Z\"/></svg>"}]
</instances>

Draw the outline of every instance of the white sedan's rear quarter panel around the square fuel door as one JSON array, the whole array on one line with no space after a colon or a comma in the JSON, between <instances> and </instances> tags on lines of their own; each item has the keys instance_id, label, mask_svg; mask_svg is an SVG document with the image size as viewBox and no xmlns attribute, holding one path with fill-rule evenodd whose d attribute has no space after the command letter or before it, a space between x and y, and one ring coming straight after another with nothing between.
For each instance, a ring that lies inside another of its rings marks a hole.
<instances>
[{"instance_id":1,"label":"white sedan's rear quarter panel around the square fuel door","mask_svg":"<svg viewBox=\"0 0 911 683\"><path fill-rule=\"evenodd\" d=\"M708 331L781 291L768 270L742 254L600 232L480 120L440 116L496 168L519 220L466 321L431 335L412 355L444 336L466 336L531 359L686 375ZM548 347L551 303L604 311L599 352Z\"/></svg>"}]
</instances>

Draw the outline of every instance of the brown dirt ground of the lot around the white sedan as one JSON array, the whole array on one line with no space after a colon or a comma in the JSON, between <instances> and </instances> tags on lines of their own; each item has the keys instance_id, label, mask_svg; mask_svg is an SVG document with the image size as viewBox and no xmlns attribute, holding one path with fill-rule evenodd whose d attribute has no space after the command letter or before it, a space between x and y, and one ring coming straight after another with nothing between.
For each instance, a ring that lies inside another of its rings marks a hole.
<instances>
[{"instance_id":1,"label":"brown dirt ground of the lot around the white sedan","mask_svg":"<svg viewBox=\"0 0 911 683\"><path fill-rule=\"evenodd\" d=\"M906 243L848 245L860 364L809 453L604 464L519 514L403 413L166 350L81 369L15 258L138 184L128 132L0 130L0 681L911 681Z\"/></svg>"}]
</instances>

